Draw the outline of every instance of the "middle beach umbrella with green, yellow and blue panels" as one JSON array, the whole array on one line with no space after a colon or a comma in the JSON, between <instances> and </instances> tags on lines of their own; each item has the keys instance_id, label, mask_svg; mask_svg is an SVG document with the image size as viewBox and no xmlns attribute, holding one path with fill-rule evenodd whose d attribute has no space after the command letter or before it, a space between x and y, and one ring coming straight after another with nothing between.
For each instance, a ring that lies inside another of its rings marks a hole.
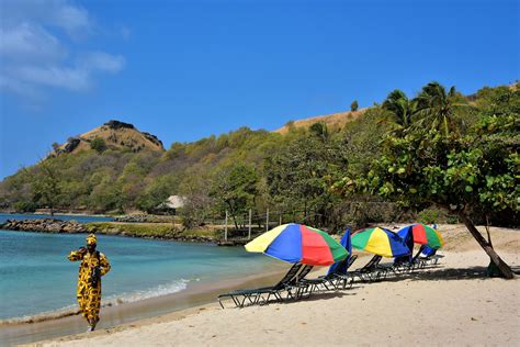
<instances>
[{"instance_id":1,"label":"middle beach umbrella with green, yellow and blue panels","mask_svg":"<svg viewBox=\"0 0 520 347\"><path fill-rule=\"evenodd\" d=\"M383 257L400 257L411 253L404 239L386 228L370 227L352 235L352 246Z\"/></svg>"}]
</instances>

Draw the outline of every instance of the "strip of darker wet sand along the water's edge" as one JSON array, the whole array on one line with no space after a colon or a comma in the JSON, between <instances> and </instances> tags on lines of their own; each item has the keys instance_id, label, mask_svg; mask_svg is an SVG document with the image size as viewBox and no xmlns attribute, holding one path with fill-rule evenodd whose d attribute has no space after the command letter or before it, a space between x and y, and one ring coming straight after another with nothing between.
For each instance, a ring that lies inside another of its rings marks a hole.
<instances>
[{"instance_id":1,"label":"strip of darker wet sand along the water's edge","mask_svg":"<svg viewBox=\"0 0 520 347\"><path fill-rule=\"evenodd\" d=\"M105 305L101 310L101 321L98 329L118 329L143 320L154 320L201 305L218 305L216 296L238 288L255 288L276 282L286 271L280 266L263 273L246 278L231 278L212 282L194 282L185 290L166 295L147 298L116 305ZM15 318L12 318L15 320ZM10 321L10 320L5 320ZM12 322L0 325L0 346L33 344L49 338L76 335L86 331L87 323L78 313L60 316L49 316L35 322Z\"/></svg>"}]
</instances>

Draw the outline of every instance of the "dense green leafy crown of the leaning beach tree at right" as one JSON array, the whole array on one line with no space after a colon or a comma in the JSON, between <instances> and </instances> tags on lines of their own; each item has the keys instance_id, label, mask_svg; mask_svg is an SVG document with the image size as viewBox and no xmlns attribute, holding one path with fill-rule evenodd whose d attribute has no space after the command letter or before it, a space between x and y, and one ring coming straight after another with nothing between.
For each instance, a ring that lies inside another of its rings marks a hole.
<instances>
[{"instance_id":1,"label":"dense green leafy crown of the leaning beach tree at right","mask_svg":"<svg viewBox=\"0 0 520 347\"><path fill-rule=\"evenodd\" d=\"M433 117L442 119L455 108L437 112L444 113ZM446 134L444 126L414 128L404 137L388 135L368 176L339 184L348 188L350 182L354 189L414 209L437 204L453 212L518 214L519 119L518 113L481 111L479 121L464 135L456 130Z\"/></svg>"}]
</instances>

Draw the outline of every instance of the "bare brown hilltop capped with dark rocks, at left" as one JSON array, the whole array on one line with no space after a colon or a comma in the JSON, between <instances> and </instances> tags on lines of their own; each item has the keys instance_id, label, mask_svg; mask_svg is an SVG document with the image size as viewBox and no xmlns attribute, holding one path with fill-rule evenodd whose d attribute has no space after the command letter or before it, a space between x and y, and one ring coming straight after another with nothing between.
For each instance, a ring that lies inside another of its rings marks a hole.
<instances>
[{"instance_id":1,"label":"bare brown hilltop capped with dark rocks, at left","mask_svg":"<svg viewBox=\"0 0 520 347\"><path fill-rule=\"evenodd\" d=\"M162 142L157 136L137 130L133 124L121 121L109 121L90 132L70 137L65 144L55 146L53 155L77 153L90 149L94 139L100 138L106 148L163 152Z\"/></svg>"}]
</instances>

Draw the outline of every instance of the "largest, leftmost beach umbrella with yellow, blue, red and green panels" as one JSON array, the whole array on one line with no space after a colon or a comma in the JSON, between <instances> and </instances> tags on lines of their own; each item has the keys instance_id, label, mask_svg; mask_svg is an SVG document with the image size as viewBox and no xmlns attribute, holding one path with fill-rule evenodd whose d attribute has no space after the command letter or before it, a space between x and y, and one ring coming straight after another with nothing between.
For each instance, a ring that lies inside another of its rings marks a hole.
<instances>
[{"instance_id":1,"label":"largest, leftmost beach umbrella with yellow, blue, red and green panels","mask_svg":"<svg viewBox=\"0 0 520 347\"><path fill-rule=\"evenodd\" d=\"M327 266L343 260L347 249L326 232L302 224L282 224L246 245L247 251L263 253L287 262Z\"/></svg>"}]
</instances>

